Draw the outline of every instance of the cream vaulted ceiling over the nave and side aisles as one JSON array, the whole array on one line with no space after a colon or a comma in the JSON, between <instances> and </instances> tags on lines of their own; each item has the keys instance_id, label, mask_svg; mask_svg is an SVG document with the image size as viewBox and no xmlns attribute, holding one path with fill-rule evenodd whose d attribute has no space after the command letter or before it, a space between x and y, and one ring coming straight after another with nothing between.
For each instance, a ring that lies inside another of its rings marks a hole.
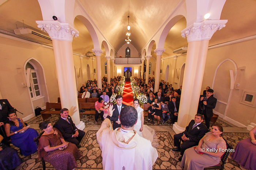
<instances>
[{"instance_id":1,"label":"cream vaulted ceiling over the nave and side aisles","mask_svg":"<svg viewBox=\"0 0 256 170\"><path fill-rule=\"evenodd\" d=\"M124 44L128 25L128 0L79 0L91 19L117 52ZM130 0L129 24L131 25L131 44L137 51L151 39L154 33L170 15L180 0ZM212 36L209 46L242 37L256 35L256 0L227 0L221 19L227 19L226 27ZM14 33L16 27L31 28L42 32L35 23L43 20L37 0L0 0L0 29ZM174 49L186 46L187 40L181 37L181 30L186 28L185 17L170 29L164 48L163 57L174 55ZM92 52L93 41L87 28L75 18L74 27L79 37L72 43L73 52L87 54ZM52 44L49 44L52 45ZM155 45L153 48L156 48ZM103 49L104 50L104 49ZM154 49L153 49L154 50ZM151 54L152 55L152 54ZM154 57L154 55L153 55Z\"/></svg>"}]
</instances>

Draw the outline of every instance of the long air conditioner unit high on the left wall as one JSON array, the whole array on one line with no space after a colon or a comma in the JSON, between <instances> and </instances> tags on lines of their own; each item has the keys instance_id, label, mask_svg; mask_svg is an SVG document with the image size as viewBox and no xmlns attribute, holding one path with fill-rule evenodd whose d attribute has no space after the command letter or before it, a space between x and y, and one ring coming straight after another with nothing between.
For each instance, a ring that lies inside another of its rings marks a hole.
<instances>
[{"instance_id":1,"label":"long air conditioner unit high on the left wall","mask_svg":"<svg viewBox=\"0 0 256 170\"><path fill-rule=\"evenodd\" d=\"M42 43L50 44L52 43L52 40L49 36L46 36L42 33L36 32L29 28L17 28L14 29L14 33L19 36L27 37Z\"/></svg>"}]
</instances>

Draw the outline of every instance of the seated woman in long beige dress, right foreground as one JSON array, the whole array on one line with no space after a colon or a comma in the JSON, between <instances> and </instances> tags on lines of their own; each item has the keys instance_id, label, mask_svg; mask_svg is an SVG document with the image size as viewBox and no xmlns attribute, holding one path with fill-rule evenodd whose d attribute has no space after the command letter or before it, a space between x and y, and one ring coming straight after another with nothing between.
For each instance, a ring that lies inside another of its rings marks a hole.
<instances>
[{"instance_id":1,"label":"seated woman in long beige dress, right foreground","mask_svg":"<svg viewBox=\"0 0 256 170\"><path fill-rule=\"evenodd\" d=\"M191 147L185 151L180 166L184 167L184 170L203 170L205 167L217 165L227 148L222 136L222 126L212 124L211 132L204 135L198 146L195 149ZM199 151L202 152L202 149L204 152L201 155Z\"/></svg>"}]
</instances>

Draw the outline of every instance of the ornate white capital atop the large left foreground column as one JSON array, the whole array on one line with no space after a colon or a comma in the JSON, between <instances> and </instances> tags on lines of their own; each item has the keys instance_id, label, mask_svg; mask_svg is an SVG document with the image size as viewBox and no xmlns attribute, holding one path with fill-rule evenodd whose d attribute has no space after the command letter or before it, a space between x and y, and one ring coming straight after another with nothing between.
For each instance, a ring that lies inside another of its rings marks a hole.
<instances>
[{"instance_id":1,"label":"ornate white capital atop the large left foreground column","mask_svg":"<svg viewBox=\"0 0 256 170\"><path fill-rule=\"evenodd\" d=\"M52 40L73 41L73 37L78 37L78 31L69 26L68 23L59 21L35 21L38 28L47 32Z\"/></svg>"}]
</instances>

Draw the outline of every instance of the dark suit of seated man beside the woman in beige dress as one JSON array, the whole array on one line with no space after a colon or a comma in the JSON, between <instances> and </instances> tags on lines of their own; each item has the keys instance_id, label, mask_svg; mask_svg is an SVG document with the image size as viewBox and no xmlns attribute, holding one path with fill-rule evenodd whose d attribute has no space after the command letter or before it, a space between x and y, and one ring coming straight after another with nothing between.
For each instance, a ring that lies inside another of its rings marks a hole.
<instances>
[{"instance_id":1,"label":"dark suit of seated man beside the woman in beige dress","mask_svg":"<svg viewBox=\"0 0 256 170\"><path fill-rule=\"evenodd\" d=\"M200 139L202 139L203 136L208 132L206 126L204 126L203 123L200 123L199 125L197 125L192 129L194 124L195 124L195 120L191 120L191 122L188 124L184 132L173 136L174 146L177 146L181 150L180 152L181 155L184 154L186 149L198 145ZM183 143L180 144L182 140L181 137L183 134L186 135L189 141L182 141Z\"/></svg>"}]
</instances>

